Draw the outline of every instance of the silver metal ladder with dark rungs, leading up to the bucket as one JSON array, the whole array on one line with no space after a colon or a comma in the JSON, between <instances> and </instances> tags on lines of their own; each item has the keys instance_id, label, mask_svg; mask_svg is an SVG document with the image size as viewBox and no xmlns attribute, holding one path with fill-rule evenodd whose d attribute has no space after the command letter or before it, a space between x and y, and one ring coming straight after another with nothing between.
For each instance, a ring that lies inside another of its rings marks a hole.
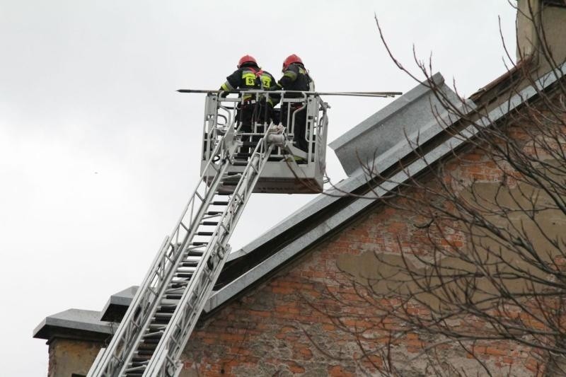
<instances>
[{"instance_id":1,"label":"silver metal ladder with dark rungs, leading up to the bucket","mask_svg":"<svg viewBox=\"0 0 566 377\"><path fill-rule=\"evenodd\" d=\"M267 134L267 133L266 133ZM227 242L273 149L258 142L246 168L227 174L241 142L232 126L209 159L216 174L201 177L171 236L161 249L106 349L88 376L177 376L177 360L229 253ZM218 187L237 182L233 193Z\"/></svg>"}]
</instances>

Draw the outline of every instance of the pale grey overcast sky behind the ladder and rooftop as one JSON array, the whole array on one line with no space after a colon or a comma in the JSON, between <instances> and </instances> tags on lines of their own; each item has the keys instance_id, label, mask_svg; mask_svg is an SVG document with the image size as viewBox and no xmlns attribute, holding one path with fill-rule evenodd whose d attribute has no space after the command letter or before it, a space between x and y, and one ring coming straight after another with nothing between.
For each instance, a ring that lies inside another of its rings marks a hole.
<instances>
[{"instance_id":1,"label":"pale grey overcast sky behind the ladder and rooftop","mask_svg":"<svg viewBox=\"0 0 566 377\"><path fill-rule=\"evenodd\" d=\"M296 53L319 91L408 91L412 45L470 95L504 72L507 0L0 0L0 311L3 376L45 376L32 330L100 311L137 285L199 178L204 95L253 54L279 78ZM389 103L326 98L328 140ZM328 174L345 177L332 151ZM311 195L253 195L237 250Z\"/></svg>"}]
</instances>

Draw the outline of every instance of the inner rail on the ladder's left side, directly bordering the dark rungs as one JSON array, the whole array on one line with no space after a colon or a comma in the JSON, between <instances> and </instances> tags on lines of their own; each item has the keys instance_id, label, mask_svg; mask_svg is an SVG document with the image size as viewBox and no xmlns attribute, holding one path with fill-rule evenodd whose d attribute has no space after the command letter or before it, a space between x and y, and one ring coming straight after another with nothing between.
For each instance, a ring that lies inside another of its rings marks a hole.
<instances>
[{"instance_id":1,"label":"inner rail on the ladder's left side, directly bordering the dark rungs","mask_svg":"<svg viewBox=\"0 0 566 377\"><path fill-rule=\"evenodd\" d=\"M230 133L226 134L223 137L223 139L225 139L228 135L232 135L232 134L230 134ZM217 149L221 148L222 146L224 146L224 143L222 143L222 142L219 143L218 146L216 147L215 151ZM223 152L226 152L226 151L223 151ZM222 153L222 154L224 155L224 153ZM209 163L211 163L211 161L209 161ZM209 163L207 163L207 166L209 165ZM212 199L214 199L216 189L220 185L221 177L226 172L228 165L229 165L229 163L226 162L226 158L224 158L224 162L223 162L221 168L217 171L217 173L214 177L214 180L213 180L212 184L210 185L210 187L208 187L207 182L204 182L204 180L202 179L203 177L201 177L201 180L200 180L199 184L197 185L197 189L195 190L193 196L190 199L190 203L194 204L195 198L200 197L199 195L197 195L199 188L204 187L204 195L201 195L202 199L200 199L201 204L200 204L199 208L197 209L196 214L193 214L192 216L190 216L191 217L190 218L190 224L188 226L185 226L189 230L186 231L186 234L183 237L182 243L180 245L173 245L173 243L169 243L170 247L176 248L179 251L178 251L178 253L175 253L174 259L171 260L171 263L169 264L169 267L168 267L166 273L163 274L163 279L162 279L163 284L160 284L160 286L157 287L158 288L157 294L156 294L155 300L152 302L153 305L151 306L151 311L149 311L149 315L146 315L146 317L144 318L143 324L140 326L141 330L139 332L137 332L135 337L133 337L134 341L132 342L132 347L129 347L127 356L125 357L125 359L123 359L124 362L121 365L120 373L118 373L117 376L122 376L125 373L125 370L128 368L128 362L129 362L129 360L132 359L132 357L134 356L134 352L136 352L136 350L137 350L136 345L139 344L139 342L141 342L141 339L144 336L143 330L149 327L149 324L151 323L152 318L154 317L156 311L158 310L159 303L161 303L163 296L165 296L165 294L166 294L167 284L169 282L171 282L171 280L173 279L175 271L178 269L180 263L184 259L185 253L187 252L187 248L190 247L190 240L192 240L192 238L195 237L195 233L197 233L197 231L198 231L198 226L193 226L193 225L200 224L200 221L202 220L202 217L204 216L205 212L207 211L209 204L212 202ZM187 214L187 209L189 207L190 207L189 205L187 205L187 207L185 207L185 211L183 211L183 215L181 215L181 218L178 221L178 225L173 230L173 235L178 234L181 231L185 231L185 227L183 227L181 224L184 224L183 220L185 219L185 215Z\"/></svg>"}]
</instances>

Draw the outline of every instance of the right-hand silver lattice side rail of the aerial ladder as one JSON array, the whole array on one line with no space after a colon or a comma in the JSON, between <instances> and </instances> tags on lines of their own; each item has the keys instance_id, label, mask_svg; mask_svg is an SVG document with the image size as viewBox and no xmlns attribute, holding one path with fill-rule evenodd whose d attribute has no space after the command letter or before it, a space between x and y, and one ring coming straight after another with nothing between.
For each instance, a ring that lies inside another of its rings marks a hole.
<instances>
[{"instance_id":1,"label":"right-hand silver lattice side rail of the aerial ladder","mask_svg":"<svg viewBox=\"0 0 566 377\"><path fill-rule=\"evenodd\" d=\"M265 136L263 140L265 140ZM177 371L177 373L180 371L175 366L175 362L183 352L190 333L197 323L202 308L204 308L209 292L212 291L226 260L226 253L219 252L226 249L226 244L232 233L231 230L236 226L243 208L253 192L253 187L261 175L261 170L270 156L270 151L273 149L273 146L270 146L267 152L260 152L262 149L265 149L265 143L262 141L256 146L253 158L250 159L248 166L246 166L236 186L231 202L224 211L222 221L216 226L211 243L207 246L207 251L200 261L197 272L193 275L190 285L187 286L166 329L166 333L163 334L161 342L158 344L154 354L156 357L150 361L144 376L170 376L171 373L168 371ZM262 158L260 158L261 155L263 155ZM216 260L214 261L211 276L205 269L207 268L207 261L212 257L216 257ZM161 356L163 353L166 353L168 356L163 358ZM158 360L163 360L166 364L159 365Z\"/></svg>"}]
</instances>

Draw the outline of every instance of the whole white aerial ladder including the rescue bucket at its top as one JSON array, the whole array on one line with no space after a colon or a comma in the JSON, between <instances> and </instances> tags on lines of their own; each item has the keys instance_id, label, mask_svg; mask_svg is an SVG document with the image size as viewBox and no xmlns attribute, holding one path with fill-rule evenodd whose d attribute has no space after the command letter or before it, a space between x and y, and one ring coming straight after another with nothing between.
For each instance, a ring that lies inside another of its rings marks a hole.
<instances>
[{"instance_id":1,"label":"whole white aerial ladder including the rescue bucket at its top","mask_svg":"<svg viewBox=\"0 0 566 377\"><path fill-rule=\"evenodd\" d=\"M207 93L202 174L88 377L178 376L180 354L230 253L229 238L252 192L323 190L329 106L320 93L246 91L231 98L218 91L181 92ZM270 95L281 96L285 124L253 122L251 132L242 132L238 110L250 105L243 98L252 96L251 103L262 111ZM307 151L293 144L295 121L303 111Z\"/></svg>"}]
</instances>

